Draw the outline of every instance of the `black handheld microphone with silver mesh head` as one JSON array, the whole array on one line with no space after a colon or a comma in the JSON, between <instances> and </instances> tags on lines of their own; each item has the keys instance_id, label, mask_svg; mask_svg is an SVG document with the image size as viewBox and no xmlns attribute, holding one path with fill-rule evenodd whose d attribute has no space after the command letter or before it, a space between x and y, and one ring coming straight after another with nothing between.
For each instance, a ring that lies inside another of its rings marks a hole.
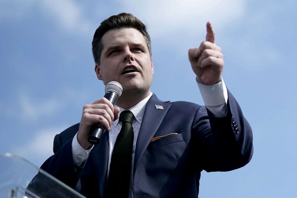
<instances>
[{"instance_id":1,"label":"black handheld microphone with silver mesh head","mask_svg":"<svg viewBox=\"0 0 297 198\"><path fill-rule=\"evenodd\" d=\"M123 93L122 85L117 81L111 81L105 86L105 95L104 98L107 98L113 105L116 103L116 99L120 97ZM100 124L94 125L88 137L88 141L91 144L98 144L102 134L105 132L105 129Z\"/></svg>"}]
</instances>

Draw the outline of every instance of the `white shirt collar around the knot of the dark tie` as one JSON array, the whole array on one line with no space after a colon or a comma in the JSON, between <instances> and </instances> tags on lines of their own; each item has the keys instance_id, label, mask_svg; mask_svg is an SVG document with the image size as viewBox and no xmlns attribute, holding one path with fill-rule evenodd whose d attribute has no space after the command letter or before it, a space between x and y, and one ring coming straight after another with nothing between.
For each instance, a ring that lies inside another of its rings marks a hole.
<instances>
[{"instance_id":1,"label":"white shirt collar around the knot of the dark tie","mask_svg":"<svg viewBox=\"0 0 297 198\"><path fill-rule=\"evenodd\" d=\"M153 93L150 92L149 96L147 96L145 99L143 99L142 101L138 102L136 105L134 105L133 107L131 107L130 109L128 109L129 111L132 112L132 114L134 115L135 119L137 120L137 122L139 122L141 124L142 119L143 119L143 115L144 115L144 111L146 109L146 103L149 101L149 99L151 98L151 96L153 95ZM115 107L119 107L118 105L114 105ZM125 111L126 109L119 107L120 108L120 112L119 114L122 113L122 111ZM116 119L113 121L113 125L116 126L119 122L119 119Z\"/></svg>"}]
</instances>

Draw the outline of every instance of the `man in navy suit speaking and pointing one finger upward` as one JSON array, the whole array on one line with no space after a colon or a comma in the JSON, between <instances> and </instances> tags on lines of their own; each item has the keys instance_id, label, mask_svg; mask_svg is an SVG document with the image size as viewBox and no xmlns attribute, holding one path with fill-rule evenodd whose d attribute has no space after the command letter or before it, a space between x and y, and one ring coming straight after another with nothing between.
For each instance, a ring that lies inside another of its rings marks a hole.
<instances>
[{"instance_id":1,"label":"man in navy suit speaking and pointing one finger upward","mask_svg":"<svg viewBox=\"0 0 297 198\"><path fill-rule=\"evenodd\" d=\"M122 84L122 96L115 107L105 98L85 105L81 122L56 135L55 154L41 168L86 197L197 197L202 170L247 164L251 128L222 81L223 55L214 41L207 22L206 41L189 49L206 108L163 102L150 92L154 67L145 25L127 13L104 20L92 43L95 72L104 84ZM117 148L129 124L118 119L122 112L132 115L131 153L117 156L127 147L123 141ZM98 123L106 132L94 146L87 138Z\"/></svg>"}]
</instances>

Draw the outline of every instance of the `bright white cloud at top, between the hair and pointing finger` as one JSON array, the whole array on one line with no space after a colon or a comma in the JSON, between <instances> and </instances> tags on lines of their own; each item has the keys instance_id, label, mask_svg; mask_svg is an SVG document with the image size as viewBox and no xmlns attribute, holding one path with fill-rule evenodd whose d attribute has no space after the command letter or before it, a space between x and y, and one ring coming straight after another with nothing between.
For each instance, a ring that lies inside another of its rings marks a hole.
<instances>
[{"instance_id":1,"label":"bright white cloud at top, between the hair and pointing finger","mask_svg":"<svg viewBox=\"0 0 297 198\"><path fill-rule=\"evenodd\" d=\"M133 9L130 9L131 4ZM158 34L172 30L205 30L208 20L219 28L237 20L245 13L245 8L244 0L125 1L125 9L147 20L150 32ZM143 20L141 17L140 20Z\"/></svg>"}]
</instances>

